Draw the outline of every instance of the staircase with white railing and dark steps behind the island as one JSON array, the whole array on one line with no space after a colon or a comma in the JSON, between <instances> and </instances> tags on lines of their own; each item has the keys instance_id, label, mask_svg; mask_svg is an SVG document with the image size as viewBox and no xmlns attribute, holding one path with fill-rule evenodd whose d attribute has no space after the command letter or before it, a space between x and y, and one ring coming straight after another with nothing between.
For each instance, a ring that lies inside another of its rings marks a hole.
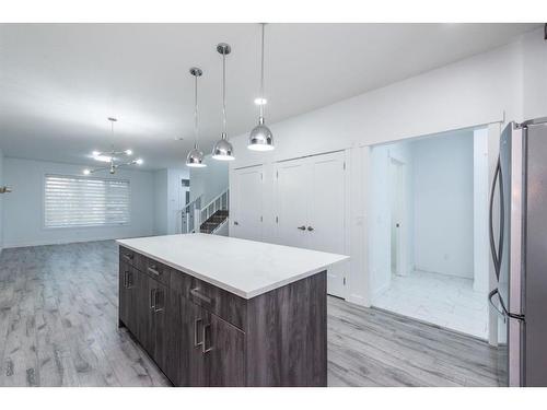
<instances>
[{"instance_id":1,"label":"staircase with white railing and dark steps behind the island","mask_svg":"<svg viewBox=\"0 0 547 410\"><path fill-rule=\"evenodd\" d=\"M201 206L201 197L196 198L183 209L183 233L226 235L229 203L229 189L222 191L206 206Z\"/></svg>"}]
</instances>

